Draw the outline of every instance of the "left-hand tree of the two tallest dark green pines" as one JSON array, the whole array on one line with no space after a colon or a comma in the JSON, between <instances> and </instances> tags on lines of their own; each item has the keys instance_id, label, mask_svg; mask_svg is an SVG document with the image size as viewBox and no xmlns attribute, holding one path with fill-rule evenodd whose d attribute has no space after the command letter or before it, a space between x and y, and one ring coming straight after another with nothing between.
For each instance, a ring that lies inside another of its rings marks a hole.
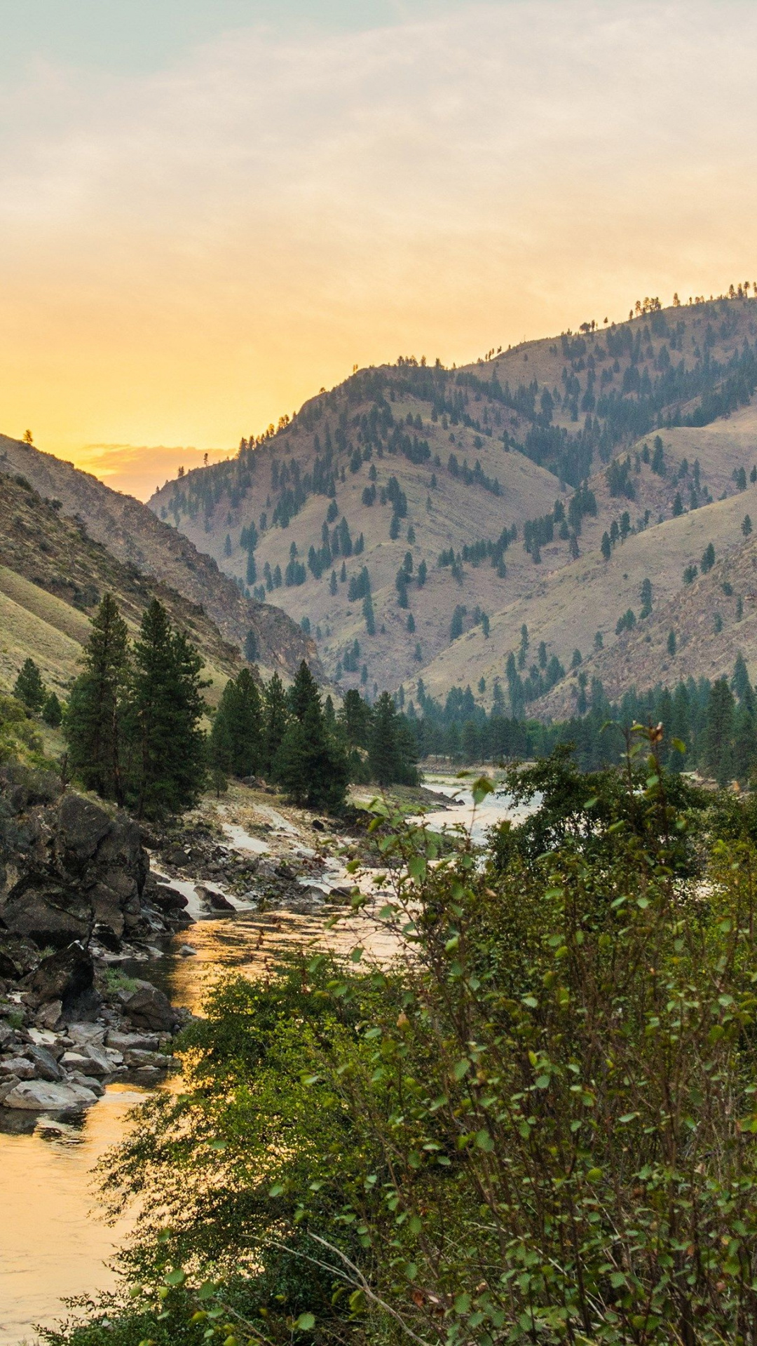
<instances>
[{"instance_id":1,"label":"left-hand tree of the two tallest dark green pines","mask_svg":"<svg viewBox=\"0 0 757 1346\"><path fill-rule=\"evenodd\" d=\"M69 767L88 790L123 805L129 653L127 623L110 594L94 614L82 664L66 712Z\"/></svg>"}]
</instances>

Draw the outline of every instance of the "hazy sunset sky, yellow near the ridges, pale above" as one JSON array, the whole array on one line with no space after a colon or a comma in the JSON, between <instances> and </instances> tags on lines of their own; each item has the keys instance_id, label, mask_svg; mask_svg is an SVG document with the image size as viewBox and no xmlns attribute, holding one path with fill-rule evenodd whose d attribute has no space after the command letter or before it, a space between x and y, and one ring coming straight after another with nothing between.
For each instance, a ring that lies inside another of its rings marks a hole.
<instances>
[{"instance_id":1,"label":"hazy sunset sky, yellow near the ridges, pale above","mask_svg":"<svg viewBox=\"0 0 757 1346\"><path fill-rule=\"evenodd\" d=\"M752 0L0 0L0 432L145 498L354 365L757 279L756 42Z\"/></svg>"}]
</instances>

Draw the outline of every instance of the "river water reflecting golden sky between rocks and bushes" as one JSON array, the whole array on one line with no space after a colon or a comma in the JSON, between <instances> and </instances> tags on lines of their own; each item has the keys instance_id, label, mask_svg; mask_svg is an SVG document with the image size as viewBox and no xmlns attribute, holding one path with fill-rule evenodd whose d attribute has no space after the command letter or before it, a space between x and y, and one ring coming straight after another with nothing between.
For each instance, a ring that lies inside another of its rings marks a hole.
<instances>
[{"instance_id":1,"label":"river water reflecting golden sky between rocks and bushes","mask_svg":"<svg viewBox=\"0 0 757 1346\"><path fill-rule=\"evenodd\" d=\"M455 785L449 777L426 777L426 785L454 801L445 812L430 816L434 829L465 826L477 844L485 840L489 826L504 818L517 820L525 812L496 794L486 795L474 810L467 785ZM257 839L233 824L226 832L233 849L263 849ZM341 875L334 872L333 878ZM224 973L263 976L277 958L296 949L329 946L348 952L360 941L374 954L391 952L387 937L368 918L349 918L330 931L325 930L325 919L244 910L222 919L202 919L176 935L164 957L139 964L135 970L160 985L175 1004L199 1011L207 988ZM179 954L185 944L194 946L194 957ZM0 1108L3 1346L36 1343L36 1326L66 1316L62 1296L94 1295L114 1284L108 1260L127 1237L129 1221L116 1228L104 1224L92 1170L123 1135L128 1112L145 1097L145 1090L113 1084L94 1106L65 1123Z\"/></svg>"}]
</instances>

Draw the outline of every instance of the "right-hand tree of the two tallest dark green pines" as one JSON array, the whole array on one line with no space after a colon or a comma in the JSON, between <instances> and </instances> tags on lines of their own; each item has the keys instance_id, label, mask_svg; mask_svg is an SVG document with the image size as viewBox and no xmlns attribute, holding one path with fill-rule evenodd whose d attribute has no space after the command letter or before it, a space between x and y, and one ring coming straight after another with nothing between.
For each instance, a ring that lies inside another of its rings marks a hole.
<instances>
[{"instance_id":1,"label":"right-hand tree of the two tallest dark green pines","mask_svg":"<svg viewBox=\"0 0 757 1346\"><path fill-rule=\"evenodd\" d=\"M199 727L202 660L183 631L174 631L158 599L145 610L133 649L129 697L131 793L137 817L190 808L205 783Z\"/></svg>"}]
</instances>

